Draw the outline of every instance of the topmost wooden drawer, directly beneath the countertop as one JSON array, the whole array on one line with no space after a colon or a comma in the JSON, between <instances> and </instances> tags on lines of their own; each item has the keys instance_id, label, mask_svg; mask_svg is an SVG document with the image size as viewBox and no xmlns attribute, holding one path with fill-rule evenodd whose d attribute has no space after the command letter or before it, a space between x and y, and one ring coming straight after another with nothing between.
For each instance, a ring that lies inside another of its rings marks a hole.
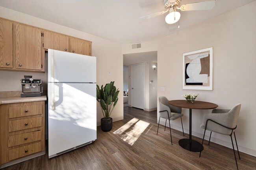
<instances>
[{"instance_id":1,"label":"topmost wooden drawer, directly beneath the countertop","mask_svg":"<svg viewBox=\"0 0 256 170\"><path fill-rule=\"evenodd\" d=\"M40 104L9 107L9 118L40 115L42 107L43 105Z\"/></svg>"}]
</instances>

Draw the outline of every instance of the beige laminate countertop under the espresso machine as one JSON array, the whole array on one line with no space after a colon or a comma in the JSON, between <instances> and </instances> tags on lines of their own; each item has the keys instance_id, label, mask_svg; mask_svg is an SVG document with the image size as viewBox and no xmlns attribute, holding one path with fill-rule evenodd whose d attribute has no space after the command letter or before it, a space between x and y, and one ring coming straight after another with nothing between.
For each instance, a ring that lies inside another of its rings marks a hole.
<instances>
[{"instance_id":1,"label":"beige laminate countertop under the espresso machine","mask_svg":"<svg viewBox=\"0 0 256 170\"><path fill-rule=\"evenodd\" d=\"M46 101L46 100L47 100L46 95L42 95L40 97L20 97L20 96L0 97L0 104Z\"/></svg>"}]
</instances>

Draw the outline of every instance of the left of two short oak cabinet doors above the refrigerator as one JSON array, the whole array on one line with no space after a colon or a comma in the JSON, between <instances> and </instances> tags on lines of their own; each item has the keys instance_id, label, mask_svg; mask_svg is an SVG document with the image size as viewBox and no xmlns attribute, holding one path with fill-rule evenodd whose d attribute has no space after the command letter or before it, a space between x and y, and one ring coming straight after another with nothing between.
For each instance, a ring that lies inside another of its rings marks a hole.
<instances>
[{"instance_id":1,"label":"left of two short oak cabinet doors above the refrigerator","mask_svg":"<svg viewBox=\"0 0 256 170\"><path fill-rule=\"evenodd\" d=\"M69 37L50 31L44 31L44 49L56 49L69 52Z\"/></svg>"}]
</instances>

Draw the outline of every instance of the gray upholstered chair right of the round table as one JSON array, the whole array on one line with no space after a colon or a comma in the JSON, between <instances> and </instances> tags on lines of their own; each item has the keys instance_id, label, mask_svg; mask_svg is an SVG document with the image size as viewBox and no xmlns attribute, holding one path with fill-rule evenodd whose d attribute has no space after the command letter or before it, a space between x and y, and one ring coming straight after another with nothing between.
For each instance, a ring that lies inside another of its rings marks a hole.
<instances>
[{"instance_id":1,"label":"gray upholstered chair right of the round table","mask_svg":"<svg viewBox=\"0 0 256 170\"><path fill-rule=\"evenodd\" d=\"M234 149L232 134L234 133L234 137L236 141L236 134L234 130L236 129L240 108L241 108L241 104L239 103L239 104L236 104L236 106L234 106L232 109L213 109L211 113L207 113L204 115L203 123L200 126L202 129L204 129L204 135L206 130L209 130L211 132L221 133L223 135L229 135L231 138L232 146L233 146L235 160L236 160L236 153ZM210 134L210 139L211 139L211 134ZM209 139L208 145L210 144L210 139ZM203 143L204 143L204 137L203 137L202 144ZM239 150L237 147L237 141L236 141L236 148L237 148L238 156L240 159ZM199 157L201 156L201 152ZM236 160L236 167L238 170L237 160Z\"/></svg>"}]
</instances>

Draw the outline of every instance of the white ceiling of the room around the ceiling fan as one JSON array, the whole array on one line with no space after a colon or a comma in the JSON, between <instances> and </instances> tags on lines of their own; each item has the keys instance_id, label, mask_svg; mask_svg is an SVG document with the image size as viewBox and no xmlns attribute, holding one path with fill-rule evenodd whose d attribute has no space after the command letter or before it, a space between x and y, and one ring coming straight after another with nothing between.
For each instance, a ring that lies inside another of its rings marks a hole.
<instances>
[{"instance_id":1,"label":"white ceiling of the room around the ceiling fan","mask_svg":"<svg viewBox=\"0 0 256 170\"><path fill-rule=\"evenodd\" d=\"M181 4L206 0L182 0ZM180 29L198 24L255 0L216 0L209 11L181 11ZM71 27L119 44L158 40L178 31L166 24L163 0L0 0L0 6Z\"/></svg>"}]
</instances>

